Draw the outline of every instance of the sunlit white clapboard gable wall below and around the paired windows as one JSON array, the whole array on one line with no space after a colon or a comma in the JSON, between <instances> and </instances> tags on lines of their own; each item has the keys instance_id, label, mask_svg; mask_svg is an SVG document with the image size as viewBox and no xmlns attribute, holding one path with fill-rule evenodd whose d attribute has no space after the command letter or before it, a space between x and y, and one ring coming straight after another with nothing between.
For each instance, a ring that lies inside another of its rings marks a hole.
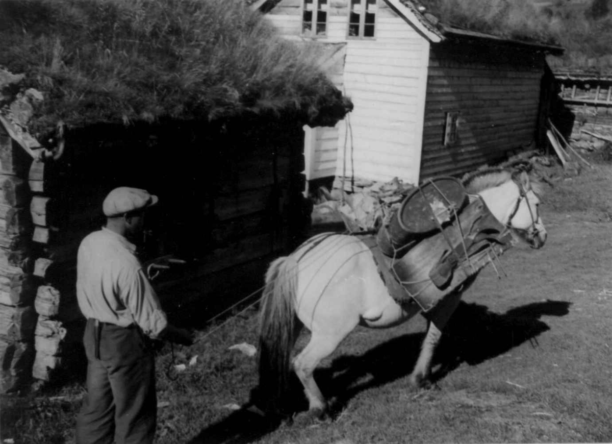
<instances>
[{"instance_id":1,"label":"sunlit white clapboard gable wall below and around the paired windows","mask_svg":"<svg viewBox=\"0 0 612 444\"><path fill-rule=\"evenodd\" d=\"M335 175L416 183L429 43L384 0L378 1L373 39L347 38L348 0L329 6L327 34L314 40L346 42L344 92L354 103L337 125ZM302 1L282 0L267 18L284 36L304 38ZM315 159L334 157L332 142L325 146Z\"/></svg>"}]
</instances>

